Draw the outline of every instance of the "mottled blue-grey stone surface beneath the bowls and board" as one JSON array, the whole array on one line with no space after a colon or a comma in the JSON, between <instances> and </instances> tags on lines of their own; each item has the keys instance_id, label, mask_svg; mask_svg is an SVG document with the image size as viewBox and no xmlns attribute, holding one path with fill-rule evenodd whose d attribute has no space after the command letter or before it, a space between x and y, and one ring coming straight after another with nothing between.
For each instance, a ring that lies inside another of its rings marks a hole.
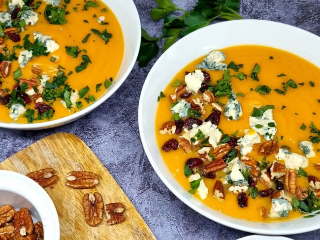
<instances>
[{"instance_id":1,"label":"mottled blue-grey stone surface beneath the bowls and board","mask_svg":"<svg viewBox=\"0 0 320 240\"><path fill-rule=\"evenodd\" d=\"M142 27L151 35L159 35L161 23L153 22L149 15L156 5L154 0L134 2ZM195 0L174 2L182 8L191 9ZM273 20L320 35L320 0L242 0L240 13L246 19ZM70 132L79 136L96 153L157 239L234 240L250 235L213 222L187 207L152 169L142 149L137 121L140 90L151 66L139 68L136 64L116 94L76 122L41 131L0 129L0 161L45 136ZM319 239L319 235L320 230L288 237L311 240Z\"/></svg>"}]
</instances>

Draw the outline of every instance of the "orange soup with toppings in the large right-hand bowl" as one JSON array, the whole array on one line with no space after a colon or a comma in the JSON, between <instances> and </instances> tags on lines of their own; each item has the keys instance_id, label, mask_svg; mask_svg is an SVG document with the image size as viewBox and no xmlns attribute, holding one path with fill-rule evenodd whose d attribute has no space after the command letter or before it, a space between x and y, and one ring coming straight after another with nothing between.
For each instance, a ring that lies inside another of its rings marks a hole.
<instances>
[{"instance_id":1,"label":"orange soup with toppings in the large right-hand bowl","mask_svg":"<svg viewBox=\"0 0 320 240\"><path fill-rule=\"evenodd\" d=\"M204 204L236 218L314 216L319 76L312 63L263 46L192 61L158 97L156 135L170 172Z\"/></svg>"}]
</instances>

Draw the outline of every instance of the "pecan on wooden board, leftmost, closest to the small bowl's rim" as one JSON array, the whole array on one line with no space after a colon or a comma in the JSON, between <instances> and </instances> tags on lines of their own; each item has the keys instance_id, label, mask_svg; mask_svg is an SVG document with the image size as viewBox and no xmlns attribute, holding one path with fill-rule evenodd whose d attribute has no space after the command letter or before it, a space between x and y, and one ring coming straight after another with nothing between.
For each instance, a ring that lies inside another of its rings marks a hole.
<instances>
[{"instance_id":1,"label":"pecan on wooden board, leftmost, closest to the small bowl's rim","mask_svg":"<svg viewBox=\"0 0 320 240\"><path fill-rule=\"evenodd\" d=\"M48 187L56 183L58 180L57 175L54 175L53 168L44 168L38 171L28 173L26 176L34 180L41 187Z\"/></svg>"}]
</instances>

